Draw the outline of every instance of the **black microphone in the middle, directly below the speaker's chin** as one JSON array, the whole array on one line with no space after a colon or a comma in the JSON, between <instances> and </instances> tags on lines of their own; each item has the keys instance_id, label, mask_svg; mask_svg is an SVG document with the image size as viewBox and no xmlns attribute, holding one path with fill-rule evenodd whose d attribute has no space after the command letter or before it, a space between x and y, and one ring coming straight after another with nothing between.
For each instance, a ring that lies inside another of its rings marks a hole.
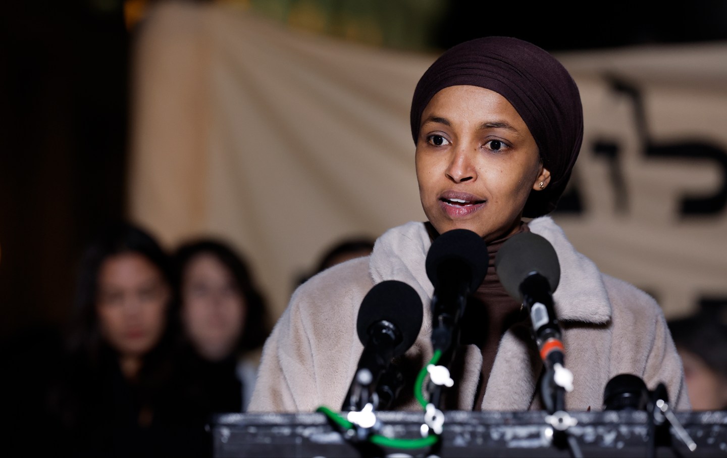
<instances>
[{"instance_id":1,"label":"black microphone in the middle, directly below the speaker's chin","mask_svg":"<svg viewBox=\"0 0 727 458\"><path fill-rule=\"evenodd\" d=\"M467 297L487 273L489 253L485 241L468 229L452 229L432 242L425 267L434 285L432 346L446 353L457 335Z\"/></svg>"}]
</instances>

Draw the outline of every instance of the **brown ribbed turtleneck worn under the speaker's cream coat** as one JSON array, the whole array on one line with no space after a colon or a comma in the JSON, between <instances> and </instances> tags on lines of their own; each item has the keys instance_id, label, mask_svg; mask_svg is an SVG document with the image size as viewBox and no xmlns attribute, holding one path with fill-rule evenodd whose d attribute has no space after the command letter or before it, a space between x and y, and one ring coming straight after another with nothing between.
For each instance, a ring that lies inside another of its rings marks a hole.
<instances>
[{"instance_id":1,"label":"brown ribbed turtleneck worn under the speaker's cream coat","mask_svg":"<svg viewBox=\"0 0 727 458\"><path fill-rule=\"evenodd\" d=\"M429 233L432 240L439 235L430 222L425 222L425 228L427 228L427 233ZM482 372L473 410L480 410L481 408L500 339L502 339L507 329L526 318L521 314L522 304L510 297L500 284L495 271L495 257L502 244L510 237L517 233L529 231L530 228L527 223L521 221L520 227L514 233L487 244L489 254L487 274L477 291L470 296L465 314L460 319L462 333L459 340L460 344L477 345L482 351ZM455 361L458 359L457 356L464 356L464 351L457 351ZM458 375L456 374L457 366L462 365L454 363L453 367L450 368L453 369L451 374L453 378ZM447 396L445 403L446 409L457 409L457 396Z\"/></svg>"}]
</instances>

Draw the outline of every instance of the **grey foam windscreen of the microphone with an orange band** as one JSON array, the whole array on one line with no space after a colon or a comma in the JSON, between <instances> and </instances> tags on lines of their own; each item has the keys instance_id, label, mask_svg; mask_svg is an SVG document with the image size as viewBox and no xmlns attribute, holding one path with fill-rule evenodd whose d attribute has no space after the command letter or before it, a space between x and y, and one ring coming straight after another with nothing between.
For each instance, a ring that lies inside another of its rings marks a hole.
<instances>
[{"instance_id":1,"label":"grey foam windscreen of the microphone with an orange band","mask_svg":"<svg viewBox=\"0 0 727 458\"><path fill-rule=\"evenodd\" d=\"M531 273L547 278L551 293L561 281L561 264L553 245L531 232L515 234L502 244L495 256L495 270L507 293L518 302L523 300L520 285Z\"/></svg>"}]
</instances>

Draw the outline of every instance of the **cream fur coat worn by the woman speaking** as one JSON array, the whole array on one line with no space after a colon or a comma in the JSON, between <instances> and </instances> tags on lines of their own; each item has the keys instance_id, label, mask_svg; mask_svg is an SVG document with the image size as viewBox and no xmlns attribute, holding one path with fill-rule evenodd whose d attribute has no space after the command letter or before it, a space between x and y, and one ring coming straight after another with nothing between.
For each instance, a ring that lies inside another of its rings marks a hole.
<instances>
[{"instance_id":1,"label":"cream fur coat worn by the woman speaking","mask_svg":"<svg viewBox=\"0 0 727 458\"><path fill-rule=\"evenodd\" d=\"M574 374L566 409L601 410L606 382L621 373L642 377L649 389L664 382L672 406L690 409L681 360L654 299L601 273L552 218L539 217L529 226L553 244L561 264L553 299L563 328L566 368ZM305 412L321 405L340 409L363 350L356 333L358 308L371 286L384 280L403 281L422 298L424 322L405 358L417 371L430 361L429 247L423 223L408 222L387 230L371 256L335 265L300 286L265 342L249 411ZM542 409L537 395L542 361L529 334L520 329L513 326L499 343L482 410ZM459 409L471 410L481 351L474 345L457 351L465 352L462 379L457 381ZM405 377L416 377L416 372ZM401 409L420 410L413 395L406 395L411 400Z\"/></svg>"}]
</instances>

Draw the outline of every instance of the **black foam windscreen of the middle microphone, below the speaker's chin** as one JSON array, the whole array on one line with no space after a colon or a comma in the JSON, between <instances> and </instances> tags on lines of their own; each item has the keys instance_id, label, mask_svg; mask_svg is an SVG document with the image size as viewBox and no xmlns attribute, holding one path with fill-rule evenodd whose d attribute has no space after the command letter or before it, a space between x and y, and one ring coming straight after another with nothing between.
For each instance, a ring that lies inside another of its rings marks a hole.
<instances>
[{"instance_id":1,"label":"black foam windscreen of the middle microphone, below the speaker's chin","mask_svg":"<svg viewBox=\"0 0 727 458\"><path fill-rule=\"evenodd\" d=\"M470 291L475 291L487 274L489 260L487 244L477 233L469 229L448 230L434 239L427 252L427 277L438 288L443 269L464 270L462 274L468 276Z\"/></svg>"}]
</instances>

